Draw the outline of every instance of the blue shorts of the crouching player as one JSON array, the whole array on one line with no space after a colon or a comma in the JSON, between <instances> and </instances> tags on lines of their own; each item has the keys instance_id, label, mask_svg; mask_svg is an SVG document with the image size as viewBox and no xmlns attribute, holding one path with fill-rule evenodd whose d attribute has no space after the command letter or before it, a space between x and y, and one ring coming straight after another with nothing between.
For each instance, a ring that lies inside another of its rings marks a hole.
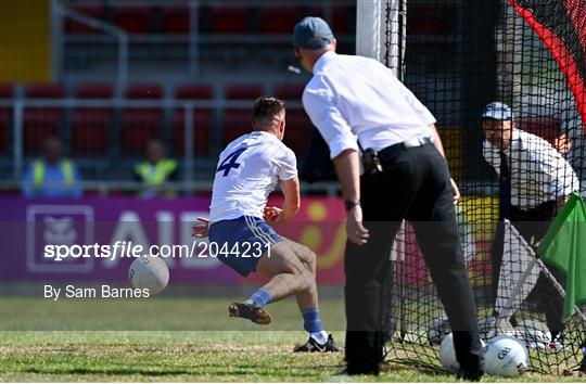
<instances>
[{"instance_id":1,"label":"blue shorts of the crouching player","mask_svg":"<svg viewBox=\"0 0 586 384\"><path fill-rule=\"evenodd\" d=\"M213 222L208 231L209 253L243 277L256 271L260 256L283 241L262 218L242 216ZM270 257L270 254L269 254Z\"/></svg>"}]
</instances>

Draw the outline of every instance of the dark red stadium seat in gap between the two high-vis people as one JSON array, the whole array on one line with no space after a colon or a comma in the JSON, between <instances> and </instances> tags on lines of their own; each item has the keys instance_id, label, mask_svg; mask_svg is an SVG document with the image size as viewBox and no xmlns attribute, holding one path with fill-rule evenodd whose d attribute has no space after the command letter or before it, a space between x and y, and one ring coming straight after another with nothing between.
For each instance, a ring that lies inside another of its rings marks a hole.
<instances>
[{"instance_id":1,"label":"dark red stadium seat in gap between the two high-vis people","mask_svg":"<svg viewBox=\"0 0 586 384\"><path fill-rule=\"evenodd\" d=\"M110 85L85 84L75 90L78 99L111 99ZM72 116L73 151L77 155L104 155L109 130L113 121L112 108L78 108Z\"/></svg>"}]
</instances>

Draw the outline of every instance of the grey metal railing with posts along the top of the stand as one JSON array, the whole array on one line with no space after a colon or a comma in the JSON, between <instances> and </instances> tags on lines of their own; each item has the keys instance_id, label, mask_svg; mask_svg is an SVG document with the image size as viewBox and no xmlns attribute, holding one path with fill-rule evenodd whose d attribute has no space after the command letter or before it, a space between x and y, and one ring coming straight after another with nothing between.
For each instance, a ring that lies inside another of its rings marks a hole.
<instances>
[{"instance_id":1,"label":"grey metal railing with posts along the top of the stand","mask_svg":"<svg viewBox=\"0 0 586 384\"><path fill-rule=\"evenodd\" d=\"M88 15L76 12L65 5L63 0L51 0L52 4L52 25L55 26L52 33L53 39L53 67L55 79L64 79L64 57L66 43L117 43L117 91L118 95L125 89L125 85L128 84L129 76L129 47L137 43L141 46L149 44L165 44L165 43L187 43L187 57L188 57L188 72L190 80L198 80L201 68L201 46L215 46L221 43L242 43L247 44L251 42L270 44L272 42L281 42L283 47L290 47L291 34L283 35L263 35L263 34L246 34L246 35L230 35L230 34L204 34L200 30L200 10L202 7L251 7L251 8L286 8L286 7L307 7L307 8L321 8L322 16L331 22L333 18L334 7L356 7L355 0L281 0L278 4L271 1L265 0L184 0L174 1L173 5L184 4L189 12L189 33L188 34L129 34L120 27L112 25L103 20L97 20ZM125 7L166 7L170 2L160 0L124 0ZM69 2L68 4L100 4L100 5L118 5L123 4L123 1L84 1L84 2ZM92 34L66 34L64 28L64 20L69 18L75 22L88 25L104 35ZM344 41L353 41L354 36L344 36Z\"/></svg>"}]
</instances>

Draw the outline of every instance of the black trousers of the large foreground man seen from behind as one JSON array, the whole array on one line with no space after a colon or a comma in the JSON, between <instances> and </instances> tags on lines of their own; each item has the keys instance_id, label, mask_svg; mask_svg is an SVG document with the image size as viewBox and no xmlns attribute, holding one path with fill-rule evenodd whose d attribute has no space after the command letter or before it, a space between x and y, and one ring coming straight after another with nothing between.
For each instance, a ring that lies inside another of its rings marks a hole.
<instances>
[{"instance_id":1,"label":"black trousers of the large foreground man seen from behind","mask_svg":"<svg viewBox=\"0 0 586 384\"><path fill-rule=\"evenodd\" d=\"M448 316L456 355L467 372L480 370L482 346L472 287L456 228L449 171L432 144L382 156L383 172L361 178L365 245L347 242L347 372L378 373L383 359L381 292L392 284L390 251L404 218L415 228L425 264Z\"/></svg>"}]
</instances>

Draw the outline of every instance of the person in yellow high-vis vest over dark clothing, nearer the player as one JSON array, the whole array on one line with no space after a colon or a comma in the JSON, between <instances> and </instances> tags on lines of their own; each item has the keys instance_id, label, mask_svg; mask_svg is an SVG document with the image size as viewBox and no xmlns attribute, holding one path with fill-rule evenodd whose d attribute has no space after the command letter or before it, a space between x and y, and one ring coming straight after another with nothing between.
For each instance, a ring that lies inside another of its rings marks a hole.
<instances>
[{"instance_id":1,"label":"person in yellow high-vis vest over dark clothing, nearer the player","mask_svg":"<svg viewBox=\"0 0 586 384\"><path fill-rule=\"evenodd\" d=\"M177 180L177 161L165 157L161 140L151 140L146 145L146 161L135 166L135 178L142 182L142 197L173 196L169 182Z\"/></svg>"}]
</instances>

